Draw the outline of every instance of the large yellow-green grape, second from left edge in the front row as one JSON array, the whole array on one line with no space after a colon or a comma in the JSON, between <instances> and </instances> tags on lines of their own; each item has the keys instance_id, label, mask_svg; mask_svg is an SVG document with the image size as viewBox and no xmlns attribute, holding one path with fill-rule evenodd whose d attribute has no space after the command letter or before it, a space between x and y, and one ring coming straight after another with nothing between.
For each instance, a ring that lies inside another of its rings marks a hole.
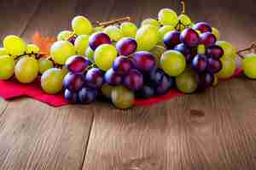
<instances>
[{"instance_id":1,"label":"large yellow-green grape, second from left edge in the front row","mask_svg":"<svg viewBox=\"0 0 256 170\"><path fill-rule=\"evenodd\" d=\"M38 60L24 57L15 65L15 77L19 82L31 83L38 77Z\"/></svg>"}]
</instances>

